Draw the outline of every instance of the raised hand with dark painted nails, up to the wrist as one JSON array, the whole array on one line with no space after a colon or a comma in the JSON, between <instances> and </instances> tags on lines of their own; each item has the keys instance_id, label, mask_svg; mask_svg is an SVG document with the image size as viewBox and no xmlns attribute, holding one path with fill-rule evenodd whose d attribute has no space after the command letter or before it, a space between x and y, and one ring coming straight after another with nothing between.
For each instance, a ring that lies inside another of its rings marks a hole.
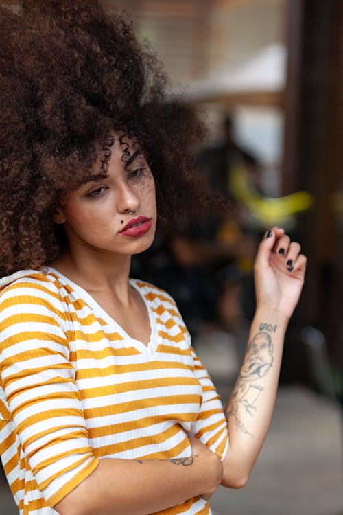
<instances>
[{"instance_id":1,"label":"raised hand with dark painted nails, up to the wrist","mask_svg":"<svg viewBox=\"0 0 343 515\"><path fill-rule=\"evenodd\" d=\"M255 260L257 309L277 311L289 319L303 288L305 255L281 227L273 227L259 244Z\"/></svg>"}]
</instances>

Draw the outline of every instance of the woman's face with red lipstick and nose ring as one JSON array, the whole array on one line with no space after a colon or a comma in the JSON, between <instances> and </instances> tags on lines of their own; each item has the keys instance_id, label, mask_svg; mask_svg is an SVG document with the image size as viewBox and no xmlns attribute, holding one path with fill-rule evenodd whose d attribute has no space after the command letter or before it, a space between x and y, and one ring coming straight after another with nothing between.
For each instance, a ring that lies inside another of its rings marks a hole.
<instances>
[{"instance_id":1,"label":"woman's face with red lipstick and nose ring","mask_svg":"<svg viewBox=\"0 0 343 515\"><path fill-rule=\"evenodd\" d=\"M56 214L56 222L64 224L73 251L132 255L150 247L154 240L156 195L152 172L137 148L123 144L126 140L119 141L117 133L114 137L108 170L85 177Z\"/></svg>"}]
</instances>

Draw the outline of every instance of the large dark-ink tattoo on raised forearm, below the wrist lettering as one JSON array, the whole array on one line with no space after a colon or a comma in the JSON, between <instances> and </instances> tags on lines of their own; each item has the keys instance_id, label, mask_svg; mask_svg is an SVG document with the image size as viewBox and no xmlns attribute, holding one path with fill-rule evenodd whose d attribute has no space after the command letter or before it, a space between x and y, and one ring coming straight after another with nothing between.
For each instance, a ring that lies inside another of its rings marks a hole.
<instances>
[{"instance_id":1,"label":"large dark-ink tattoo on raised forearm, below the wrist lettering","mask_svg":"<svg viewBox=\"0 0 343 515\"><path fill-rule=\"evenodd\" d=\"M268 325L268 331L270 330L269 327L270 325ZM271 327L272 332L274 332L276 325ZM257 411L257 399L264 389L256 381L268 374L273 362L274 347L270 334L259 331L248 344L246 356L230 399L230 409L225 413L227 420L232 417L235 420L237 429L250 436L253 435L241 421L239 411L244 409L250 416L255 414Z\"/></svg>"}]
</instances>

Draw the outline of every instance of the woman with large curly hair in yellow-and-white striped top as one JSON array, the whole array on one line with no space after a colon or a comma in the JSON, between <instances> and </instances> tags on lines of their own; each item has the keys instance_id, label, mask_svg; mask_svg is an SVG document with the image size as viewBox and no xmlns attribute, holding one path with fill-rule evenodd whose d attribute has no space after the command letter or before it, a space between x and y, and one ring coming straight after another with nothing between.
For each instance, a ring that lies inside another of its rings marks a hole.
<instances>
[{"instance_id":1,"label":"woman with large curly hair in yellow-and-white striped top","mask_svg":"<svg viewBox=\"0 0 343 515\"><path fill-rule=\"evenodd\" d=\"M96 2L25 1L0 27L0 449L19 511L209 514L268 431L305 257L279 227L261 242L225 417L173 299L129 279L157 220L224 207L192 179L201 124Z\"/></svg>"}]
</instances>

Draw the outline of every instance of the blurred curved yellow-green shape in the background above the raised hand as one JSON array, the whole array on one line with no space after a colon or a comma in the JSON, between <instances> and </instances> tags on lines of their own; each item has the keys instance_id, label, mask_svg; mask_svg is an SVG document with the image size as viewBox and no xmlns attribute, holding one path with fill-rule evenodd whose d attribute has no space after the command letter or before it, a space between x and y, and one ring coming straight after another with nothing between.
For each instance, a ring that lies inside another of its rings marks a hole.
<instances>
[{"instance_id":1,"label":"blurred curved yellow-green shape in the background above the raised hand","mask_svg":"<svg viewBox=\"0 0 343 515\"><path fill-rule=\"evenodd\" d=\"M313 205L313 198L307 192L279 198L263 197L250 185L244 166L230 170L228 185L236 200L266 227L282 225L289 216L307 211Z\"/></svg>"}]
</instances>

